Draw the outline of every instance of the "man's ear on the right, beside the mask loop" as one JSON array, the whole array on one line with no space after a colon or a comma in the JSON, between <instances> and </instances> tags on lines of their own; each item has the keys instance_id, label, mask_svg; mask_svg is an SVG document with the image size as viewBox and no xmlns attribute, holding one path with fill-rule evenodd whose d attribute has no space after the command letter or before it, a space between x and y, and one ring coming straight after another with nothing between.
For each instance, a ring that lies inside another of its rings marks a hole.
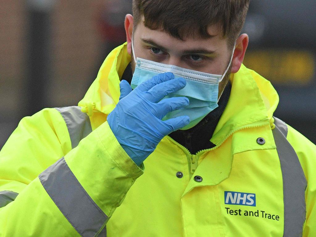
<instances>
[{"instance_id":1,"label":"man's ear on the right, beside the mask loop","mask_svg":"<svg viewBox=\"0 0 316 237\"><path fill-rule=\"evenodd\" d=\"M247 34L241 34L236 40L236 46L234 56L232 59L232 70L231 73L239 71L242 62L244 61L246 49L248 47L249 38Z\"/></svg>"}]
</instances>

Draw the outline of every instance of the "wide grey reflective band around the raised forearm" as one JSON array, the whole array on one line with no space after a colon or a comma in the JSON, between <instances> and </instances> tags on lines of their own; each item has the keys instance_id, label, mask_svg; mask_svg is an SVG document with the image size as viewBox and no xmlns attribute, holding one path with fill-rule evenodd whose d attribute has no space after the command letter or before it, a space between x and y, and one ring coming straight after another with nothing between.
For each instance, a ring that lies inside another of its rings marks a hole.
<instances>
[{"instance_id":1,"label":"wide grey reflective band around the raised forearm","mask_svg":"<svg viewBox=\"0 0 316 237\"><path fill-rule=\"evenodd\" d=\"M39 179L53 202L81 236L93 237L101 230L107 220L106 214L84 190L64 158L43 171Z\"/></svg>"}]
</instances>

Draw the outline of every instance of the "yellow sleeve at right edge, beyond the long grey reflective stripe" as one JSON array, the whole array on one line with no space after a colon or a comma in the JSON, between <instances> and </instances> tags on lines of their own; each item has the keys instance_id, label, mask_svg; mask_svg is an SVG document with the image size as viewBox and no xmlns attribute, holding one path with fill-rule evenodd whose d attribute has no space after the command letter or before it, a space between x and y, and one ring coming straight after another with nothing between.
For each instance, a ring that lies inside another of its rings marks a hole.
<instances>
[{"instance_id":1,"label":"yellow sleeve at right edge, beyond the long grey reflective stripe","mask_svg":"<svg viewBox=\"0 0 316 237\"><path fill-rule=\"evenodd\" d=\"M316 146L289 125L287 139L300 160L307 180L306 221L303 237L313 237L316 236Z\"/></svg>"}]
</instances>

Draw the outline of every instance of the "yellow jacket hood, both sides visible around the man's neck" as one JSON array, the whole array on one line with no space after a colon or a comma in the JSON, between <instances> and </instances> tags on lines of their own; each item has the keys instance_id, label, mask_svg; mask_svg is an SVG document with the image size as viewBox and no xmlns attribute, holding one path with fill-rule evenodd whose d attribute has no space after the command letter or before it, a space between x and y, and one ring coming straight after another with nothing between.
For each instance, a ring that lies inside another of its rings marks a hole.
<instances>
[{"instance_id":1,"label":"yellow jacket hood, both sides visible around the man's neck","mask_svg":"<svg viewBox=\"0 0 316 237\"><path fill-rule=\"evenodd\" d=\"M106 57L96 79L79 102L82 111L92 121L94 114L99 114L96 117L100 117L101 113L102 121L96 124L103 123L106 115L118 103L120 78L130 61L131 55L127 52L126 43L115 48ZM231 131L246 125L268 121L273 127L272 115L279 97L271 83L243 64L237 73L230 75L230 81L230 98L211 139L214 144L220 143Z\"/></svg>"}]
</instances>

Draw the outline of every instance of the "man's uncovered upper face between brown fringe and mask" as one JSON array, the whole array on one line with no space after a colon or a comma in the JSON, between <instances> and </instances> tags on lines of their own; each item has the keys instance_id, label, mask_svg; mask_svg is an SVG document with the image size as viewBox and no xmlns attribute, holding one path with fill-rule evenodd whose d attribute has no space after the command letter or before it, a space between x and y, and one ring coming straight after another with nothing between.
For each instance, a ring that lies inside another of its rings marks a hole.
<instances>
[{"instance_id":1,"label":"man's uncovered upper face between brown fringe and mask","mask_svg":"<svg viewBox=\"0 0 316 237\"><path fill-rule=\"evenodd\" d=\"M134 53L138 58L222 75L228 66L232 51L229 50L228 40L222 36L220 27L211 26L208 31L212 36L208 39L192 35L179 40L165 31L151 30L141 21L133 32ZM134 70L133 57L131 63ZM219 93L222 92L229 74L228 71L221 82Z\"/></svg>"}]
</instances>

